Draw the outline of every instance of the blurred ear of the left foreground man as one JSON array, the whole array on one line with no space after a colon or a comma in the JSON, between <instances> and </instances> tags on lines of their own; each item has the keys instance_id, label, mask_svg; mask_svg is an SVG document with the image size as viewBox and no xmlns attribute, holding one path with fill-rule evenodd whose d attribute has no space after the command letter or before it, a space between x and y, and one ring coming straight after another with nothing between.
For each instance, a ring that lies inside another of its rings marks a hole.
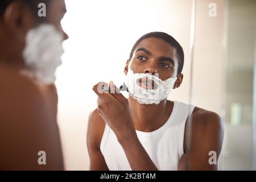
<instances>
[{"instance_id":1,"label":"blurred ear of the left foreground man","mask_svg":"<svg viewBox=\"0 0 256 182\"><path fill-rule=\"evenodd\" d=\"M15 39L23 39L27 31L35 24L30 9L22 1L11 2L3 14L7 34Z\"/></svg>"}]
</instances>

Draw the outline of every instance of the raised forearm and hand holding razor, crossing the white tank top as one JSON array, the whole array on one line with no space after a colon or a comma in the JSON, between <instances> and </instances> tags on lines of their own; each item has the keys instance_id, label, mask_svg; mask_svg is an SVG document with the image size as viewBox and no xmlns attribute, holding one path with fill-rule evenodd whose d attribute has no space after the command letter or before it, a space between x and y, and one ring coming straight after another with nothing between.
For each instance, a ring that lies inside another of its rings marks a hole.
<instances>
[{"instance_id":1,"label":"raised forearm and hand holding razor, crossing the white tank top","mask_svg":"<svg viewBox=\"0 0 256 182\"><path fill-rule=\"evenodd\" d=\"M93 86L94 92L98 95L98 113L115 133L131 169L157 170L137 137L128 100L121 93L101 93L102 88L98 86L99 84L103 82ZM117 90L113 82L110 82L110 88Z\"/></svg>"}]
</instances>

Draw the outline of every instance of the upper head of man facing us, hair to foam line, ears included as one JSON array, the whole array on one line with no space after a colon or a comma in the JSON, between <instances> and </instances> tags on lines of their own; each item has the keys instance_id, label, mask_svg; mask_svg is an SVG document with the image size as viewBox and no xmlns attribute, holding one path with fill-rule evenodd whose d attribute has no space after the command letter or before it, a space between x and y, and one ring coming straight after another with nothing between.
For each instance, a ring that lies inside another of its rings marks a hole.
<instances>
[{"instance_id":1,"label":"upper head of man facing us, hair to foam line, ears included","mask_svg":"<svg viewBox=\"0 0 256 182\"><path fill-rule=\"evenodd\" d=\"M158 73L162 80L177 77L174 88L179 87L183 80L183 48L164 32L150 32L139 38L131 49L125 74L129 63L134 73Z\"/></svg>"}]
</instances>

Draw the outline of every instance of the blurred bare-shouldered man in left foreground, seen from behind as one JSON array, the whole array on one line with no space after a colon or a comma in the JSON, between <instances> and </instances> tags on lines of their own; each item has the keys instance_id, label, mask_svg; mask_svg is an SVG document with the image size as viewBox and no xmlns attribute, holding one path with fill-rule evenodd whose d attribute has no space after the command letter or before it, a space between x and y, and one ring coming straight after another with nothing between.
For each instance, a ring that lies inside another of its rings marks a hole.
<instances>
[{"instance_id":1,"label":"blurred bare-shouldered man in left foreground, seen from behind","mask_svg":"<svg viewBox=\"0 0 256 182\"><path fill-rule=\"evenodd\" d=\"M39 3L46 5L46 17L38 15ZM28 32L44 23L51 28L55 27L53 32L61 35L61 42L68 39L60 24L65 11L64 0L0 1L0 169L2 170L64 169L56 122L55 85L53 82L42 84L36 77L23 74L23 71L27 69L24 49L28 44L26 36ZM51 28L48 30L52 30ZM48 38L47 35L43 36L44 39ZM40 44L44 42L41 41ZM34 48L35 52L38 47L34 46ZM31 57L29 53L31 52L27 53L27 58ZM40 60L42 56L36 59Z\"/></svg>"}]
</instances>

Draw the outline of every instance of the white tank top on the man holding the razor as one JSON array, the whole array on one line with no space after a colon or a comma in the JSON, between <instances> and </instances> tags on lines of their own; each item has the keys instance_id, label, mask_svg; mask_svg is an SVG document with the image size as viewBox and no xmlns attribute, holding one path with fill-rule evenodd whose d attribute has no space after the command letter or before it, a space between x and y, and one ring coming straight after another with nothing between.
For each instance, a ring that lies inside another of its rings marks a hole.
<instances>
[{"instance_id":1,"label":"white tank top on the man holding the razor","mask_svg":"<svg viewBox=\"0 0 256 182\"><path fill-rule=\"evenodd\" d=\"M177 170L181 156L184 154L185 121L188 115L192 114L194 108L194 105L174 101L172 113L163 126L152 132L136 130L139 141L159 170ZM131 170L121 144L107 124L102 136L100 150L109 170Z\"/></svg>"}]
</instances>

